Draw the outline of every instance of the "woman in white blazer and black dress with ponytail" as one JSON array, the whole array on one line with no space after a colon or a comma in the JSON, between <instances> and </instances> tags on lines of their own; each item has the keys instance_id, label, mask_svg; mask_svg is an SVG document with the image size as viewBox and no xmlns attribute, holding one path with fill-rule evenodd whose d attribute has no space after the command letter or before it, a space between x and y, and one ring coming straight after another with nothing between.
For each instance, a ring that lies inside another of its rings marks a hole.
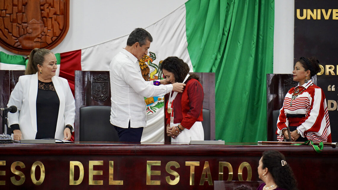
<instances>
[{"instance_id":1,"label":"woman in white blazer and black dress with ponytail","mask_svg":"<svg viewBox=\"0 0 338 190\"><path fill-rule=\"evenodd\" d=\"M14 140L71 138L75 100L68 81L55 76L56 69L56 57L50 50L31 51L25 75L19 77L7 104L18 108L16 113L8 113Z\"/></svg>"}]
</instances>

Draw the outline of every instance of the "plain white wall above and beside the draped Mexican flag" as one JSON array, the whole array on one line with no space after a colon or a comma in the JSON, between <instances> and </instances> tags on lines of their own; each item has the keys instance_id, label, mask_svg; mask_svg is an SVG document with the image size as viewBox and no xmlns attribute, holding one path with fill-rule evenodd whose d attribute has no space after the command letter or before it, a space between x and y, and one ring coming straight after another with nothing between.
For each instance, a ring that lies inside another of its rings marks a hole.
<instances>
[{"instance_id":1,"label":"plain white wall above and beside the draped Mexican flag","mask_svg":"<svg viewBox=\"0 0 338 190\"><path fill-rule=\"evenodd\" d=\"M54 53L83 49L147 27L186 0L71 0L70 24ZM291 73L293 67L294 0L275 0L274 73ZM154 39L156 40L156 39ZM11 53L2 47L0 51Z\"/></svg>"}]
</instances>

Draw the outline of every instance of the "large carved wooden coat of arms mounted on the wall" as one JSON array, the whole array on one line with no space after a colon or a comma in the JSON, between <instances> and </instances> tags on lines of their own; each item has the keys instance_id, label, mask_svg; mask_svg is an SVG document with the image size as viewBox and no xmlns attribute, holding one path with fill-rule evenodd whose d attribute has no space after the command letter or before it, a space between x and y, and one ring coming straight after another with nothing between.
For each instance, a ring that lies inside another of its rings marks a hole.
<instances>
[{"instance_id":1,"label":"large carved wooden coat of arms mounted on the wall","mask_svg":"<svg viewBox=\"0 0 338 190\"><path fill-rule=\"evenodd\" d=\"M0 46L29 55L53 49L69 28L69 0L0 0Z\"/></svg>"}]
</instances>

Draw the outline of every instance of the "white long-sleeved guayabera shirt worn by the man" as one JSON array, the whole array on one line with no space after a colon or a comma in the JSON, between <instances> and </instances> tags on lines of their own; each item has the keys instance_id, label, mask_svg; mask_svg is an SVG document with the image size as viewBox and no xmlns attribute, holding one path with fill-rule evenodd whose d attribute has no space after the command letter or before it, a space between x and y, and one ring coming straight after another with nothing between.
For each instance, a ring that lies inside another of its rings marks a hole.
<instances>
[{"instance_id":1,"label":"white long-sleeved guayabera shirt worn by the man","mask_svg":"<svg viewBox=\"0 0 338 190\"><path fill-rule=\"evenodd\" d=\"M163 96L172 91L170 85L153 85L145 81L137 58L122 49L109 66L112 108L110 122L118 127L146 127L144 97Z\"/></svg>"}]
</instances>

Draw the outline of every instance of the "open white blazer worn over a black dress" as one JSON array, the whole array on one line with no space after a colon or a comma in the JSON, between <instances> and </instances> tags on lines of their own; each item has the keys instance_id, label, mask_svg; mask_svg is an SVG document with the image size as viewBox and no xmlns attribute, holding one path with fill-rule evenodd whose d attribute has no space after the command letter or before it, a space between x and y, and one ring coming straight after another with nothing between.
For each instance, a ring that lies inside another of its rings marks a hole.
<instances>
[{"instance_id":1,"label":"open white blazer worn over a black dress","mask_svg":"<svg viewBox=\"0 0 338 190\"><path fill-rule=\"evenodd\" d=\"M75 100L66 79L53 76L52 82L60 100L55 139L62 140L66 125L72 125L74 131ZM22 139L35 139L37 134L37 95L38 73L20 76L10 94L7 106L15 105L18 111L8 113L8 125L19 124Z\"/></svg>"}]
</instances>

